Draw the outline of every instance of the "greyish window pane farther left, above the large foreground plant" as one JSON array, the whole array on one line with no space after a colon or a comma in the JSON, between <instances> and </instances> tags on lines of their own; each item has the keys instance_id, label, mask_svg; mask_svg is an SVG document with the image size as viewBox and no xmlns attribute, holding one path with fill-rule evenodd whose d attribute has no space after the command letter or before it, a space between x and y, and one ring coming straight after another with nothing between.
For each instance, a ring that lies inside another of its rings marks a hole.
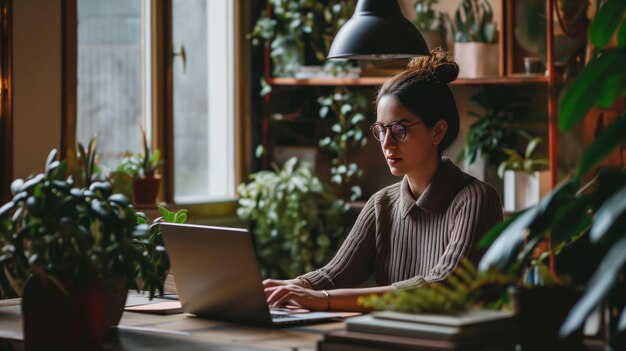
<instances>
[{"instance_id":1,"label":"greyish window pane farther left, above the large foreground plant","mask_svg":"<svg viewBox=\"0 0 626 351\"><path fill-rule=\"evenodd\" d=\"M77 140L98 136L100 164L140 152L144 106L142 0L78 0ZM149 126L147 126L149 128Z\"/></svg>"}]
</instances>

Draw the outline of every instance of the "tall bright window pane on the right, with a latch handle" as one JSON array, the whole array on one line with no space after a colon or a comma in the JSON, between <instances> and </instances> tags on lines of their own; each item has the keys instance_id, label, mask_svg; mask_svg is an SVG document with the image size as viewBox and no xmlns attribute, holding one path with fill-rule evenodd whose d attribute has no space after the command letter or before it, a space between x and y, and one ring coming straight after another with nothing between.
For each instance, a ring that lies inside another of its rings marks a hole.
<instances>
[{"instance_id":1,"label":"tall bright window pane on the right, with a latch handle","mask_svg":"<svg viewBox=\"0 0 626 351\"><path fill-rule=\"evenodd\" d=\"M234 197L232 1L174 0L172 8L174 198Z\"/></svg>"}]
</instances>

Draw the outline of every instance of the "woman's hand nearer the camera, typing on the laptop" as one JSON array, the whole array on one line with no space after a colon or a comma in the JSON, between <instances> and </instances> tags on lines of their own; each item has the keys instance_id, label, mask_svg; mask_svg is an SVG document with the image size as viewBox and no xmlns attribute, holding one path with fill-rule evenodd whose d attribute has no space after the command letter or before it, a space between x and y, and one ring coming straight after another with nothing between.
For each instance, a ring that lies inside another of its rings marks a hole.
<instances>
[{"instance_id":1,"label":"woman's hand nearer the camera, typing on the laptop","mask_svg":"<svg viewBox=\"0 0 626 351\"><path fill-rule=\"evenodd\" d=\"M326 311L328 309L326 294L295 284L267 287L265 288L265 296L270 307L284 307L291 304L311 311Z\"/></svg>"}]
</instances>

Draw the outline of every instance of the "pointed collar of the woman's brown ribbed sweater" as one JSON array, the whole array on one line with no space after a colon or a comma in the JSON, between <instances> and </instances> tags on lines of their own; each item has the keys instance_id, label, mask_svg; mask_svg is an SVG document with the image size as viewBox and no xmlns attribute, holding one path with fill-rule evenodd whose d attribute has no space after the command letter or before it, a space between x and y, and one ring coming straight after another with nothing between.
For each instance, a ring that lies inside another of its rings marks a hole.
<instances>
[{"instance_id":1,"label":"pointed collar of the woman's brown ribbed sweater","mask_svg":"<svg viewBox=\"0 0 626 351\"><path fill-rule=\"evenodd\" d=\"M413 206L417 206L429 214L437 213L449 197L450 192L456 188L455 185L461 181L461 177L462 172L459 167L450 162L449 159L444 158L426 190L415 200L409 187L409 180L404 176L400 184L402 217L408 216Z\"/></svg>"}]
</instances>

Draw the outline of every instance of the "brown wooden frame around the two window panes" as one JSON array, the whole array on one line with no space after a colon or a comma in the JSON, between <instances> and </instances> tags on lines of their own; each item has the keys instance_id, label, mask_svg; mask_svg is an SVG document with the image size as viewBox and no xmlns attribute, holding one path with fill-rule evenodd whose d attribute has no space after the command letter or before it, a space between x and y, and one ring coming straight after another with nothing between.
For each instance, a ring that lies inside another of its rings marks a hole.
<instances>
[{"instance_id":1,"label":"brown wooden frame around the two window panes","mask_svg":"<svg viewBox=\"0 0 626 351\"><path fill-rule=\"evenodd\" d=\"M205 203L174 203L174 134L173 134L173 42L172 42L172 0L146 0L150 3L150 106L151 146L163 150L165 164L162 168L159 201L166 207L187 208L197 218L236 216L237 197ZM212 1L212 0L208 0ZM242 33L242 1L233 1L233 110L234 110L234 185L244 178L245 150L249 149L244 140L247 128L243 115L248 111L243 93L247 78L243 74L242 57L244 36ZM63 126L62 149L70 167L76 164L76 125L77 125L77 52L78 21L77 0L63 0ZM235 190L235 189L233 189ZM235 191L236 193L236 191Z\"/></svg>"}]
</instances>

